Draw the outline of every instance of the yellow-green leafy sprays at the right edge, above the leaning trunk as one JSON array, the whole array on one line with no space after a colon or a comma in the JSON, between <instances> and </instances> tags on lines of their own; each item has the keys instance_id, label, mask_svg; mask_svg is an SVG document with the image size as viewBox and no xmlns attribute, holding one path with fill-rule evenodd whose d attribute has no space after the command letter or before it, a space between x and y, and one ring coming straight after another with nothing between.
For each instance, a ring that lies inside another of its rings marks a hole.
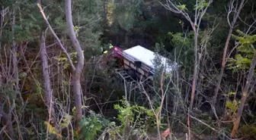
<instances>
[{"instance_id":1,"label":"yellow-green leafy sprays at the right edge, above the leaning trunk","mask_svg":"<svg viewBox=\"0 0 256 140\"><path fill-rule=\"evenodd\" d=\"M238 70L248 70L251 65L251 60L256 53L254 43L256 42L256 35L250 36L237 30L238 36L233 35L234 39L238 40L239 54L235 55L235 58L229 58L228 67L233 72Z\"/></svg>"}]
</instances>

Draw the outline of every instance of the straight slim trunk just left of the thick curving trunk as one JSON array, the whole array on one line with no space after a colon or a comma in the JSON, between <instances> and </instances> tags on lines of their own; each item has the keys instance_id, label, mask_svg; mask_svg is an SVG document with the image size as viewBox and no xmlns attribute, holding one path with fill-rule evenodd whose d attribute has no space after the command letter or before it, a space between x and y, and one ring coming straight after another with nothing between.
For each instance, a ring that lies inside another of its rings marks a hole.
<instances>
[{"instance_id":1,"label":"straight slim trunk just left of the thick curving trunk","mask_svg":"<svg viewBox=\"0 0 256 140\"><path fill-rule=\"evenodd\" d=\"M46 52L46 44L45 44L46 34L42 32L41 36L41 44L40 44L40 55L42 59L43 65L43 81L44 81L44 89L46 94L46 106L48 108L48 114L50 114L50 123L55 126L56 118L55 118L55 110L54 110L54 103L53 103L53 92L51 88L50 82L50 67L47 61L47 52Z\"/></svg>"}]
</instances>

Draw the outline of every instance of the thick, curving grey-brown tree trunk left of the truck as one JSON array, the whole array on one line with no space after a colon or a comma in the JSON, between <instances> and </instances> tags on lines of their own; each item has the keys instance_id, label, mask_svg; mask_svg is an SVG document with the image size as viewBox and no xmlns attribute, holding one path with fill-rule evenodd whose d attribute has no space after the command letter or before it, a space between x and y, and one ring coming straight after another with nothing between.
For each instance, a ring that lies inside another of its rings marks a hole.
<instances>
[{"instance_id":1,"label":"thick, curving grey-brown tree trunk left of the truck","mask_svg":"<svg viewBox=\"0 0 256 140\"><path fill-rule=\"evenodd\" d=\"M71 0L66 0L65 2L65 9L66 9L66 22L69 29L69 37L72 41L72 44L75 47L75 51L78 54L78 64L75 67L75 70L73 72L73 80L72 80L72 86L73 86L73 92L75 93L75 110L76 110L76 121L77 123L79 120L82 119L82 89L81 89L81 73L84 66L84 54L82 51L82 48L78 42L77 37L75 36L75 31L73 29L73 22L72 22L72 9L71 9Z\"/></svg>"}]
</instances>

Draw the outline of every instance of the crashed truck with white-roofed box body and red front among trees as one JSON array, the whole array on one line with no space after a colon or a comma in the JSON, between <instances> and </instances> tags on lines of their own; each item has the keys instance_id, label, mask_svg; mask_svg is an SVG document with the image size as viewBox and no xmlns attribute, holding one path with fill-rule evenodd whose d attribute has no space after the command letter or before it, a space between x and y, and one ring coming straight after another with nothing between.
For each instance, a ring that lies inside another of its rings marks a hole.
<instances>
[{"instance_id":1,"label":"crashed truck with white-roofed box body and red front among trees","mask_svg":"<svg viewBox=\"0 0 256 140\"><path fill-rule=\"evenodd\" d=\"M106 58L114 58L117 61L117 72L128 76L133 73L133 79L138 77L153 79L159 67L163 68L165 75L171 73L177 67L175 62L141 45L125 50L113 46L107 52Z\"/></svg>"}]
</instances>

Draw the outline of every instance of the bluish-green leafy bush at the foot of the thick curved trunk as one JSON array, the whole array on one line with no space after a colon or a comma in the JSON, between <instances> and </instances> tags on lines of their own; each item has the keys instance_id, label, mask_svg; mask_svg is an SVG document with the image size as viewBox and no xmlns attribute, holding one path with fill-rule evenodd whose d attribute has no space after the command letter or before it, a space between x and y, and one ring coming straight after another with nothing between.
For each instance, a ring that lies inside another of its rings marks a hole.
<instances>
[{"instance_id":1,"label":"bluish-green leafy bush at the foot of the thick curved trunk","mask_svg":"<svg viewBox=\"0 0 256 140\"><path fill-rule=\"evenodd\" d=\"M93 111L90 111L90 113L88 117L83 117L79 122L79 126L81 127L81 135L79 135L79 138L93 140L98 134L98 131L109 123L107 120L104 120L101 115L94 114Z\"/></svg>"}]
</instances>

